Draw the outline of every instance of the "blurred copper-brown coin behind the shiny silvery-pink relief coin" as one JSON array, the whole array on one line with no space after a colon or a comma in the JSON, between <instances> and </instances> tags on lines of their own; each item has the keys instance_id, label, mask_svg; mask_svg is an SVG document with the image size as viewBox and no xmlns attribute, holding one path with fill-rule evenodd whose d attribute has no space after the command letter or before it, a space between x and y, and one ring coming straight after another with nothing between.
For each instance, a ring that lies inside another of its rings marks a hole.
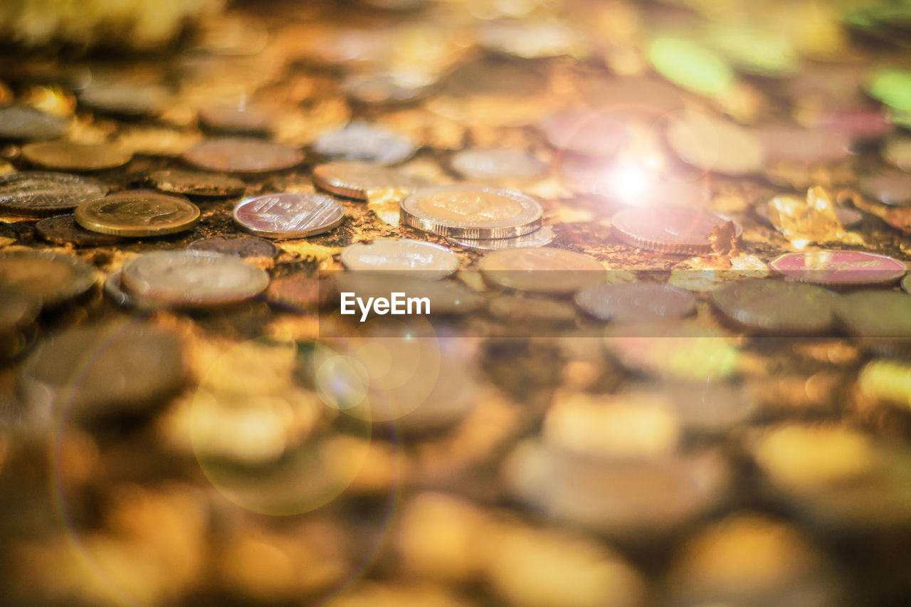
<instances>
[{"instance_id":1,"label":"blurred copper-brown coin behind the shiny silvery-pink relief coin","mask_svg":"<svg viewBox=\"0 0 911 607\"><path fill-rule=\"evenodd\" d=\"M223 138L201 141L183 153L189 164L229 173L286 170L303 161L300 149L259 139Z\"/></svg>"}]
</instances>

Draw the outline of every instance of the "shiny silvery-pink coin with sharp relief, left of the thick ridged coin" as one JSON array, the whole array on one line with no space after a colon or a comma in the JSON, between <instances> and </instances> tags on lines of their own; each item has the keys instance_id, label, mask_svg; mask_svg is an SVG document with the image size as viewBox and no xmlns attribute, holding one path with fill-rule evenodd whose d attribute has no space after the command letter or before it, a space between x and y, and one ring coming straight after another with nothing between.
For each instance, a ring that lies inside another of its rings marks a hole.
<instances>
[{"instance_id":1,"label":"shiny silvery-pink coin with sharp relief, left of the thick ridged coin","mask_svg":"<svg viewBox=\"0 0 911 607\"><path fill-rule=\"evenodd\" d=\"M234 205L234 221L266 238L305 238L338 227L344 210L339 201L322 194L266 194Z\"/></svg>"}]
</instances>

